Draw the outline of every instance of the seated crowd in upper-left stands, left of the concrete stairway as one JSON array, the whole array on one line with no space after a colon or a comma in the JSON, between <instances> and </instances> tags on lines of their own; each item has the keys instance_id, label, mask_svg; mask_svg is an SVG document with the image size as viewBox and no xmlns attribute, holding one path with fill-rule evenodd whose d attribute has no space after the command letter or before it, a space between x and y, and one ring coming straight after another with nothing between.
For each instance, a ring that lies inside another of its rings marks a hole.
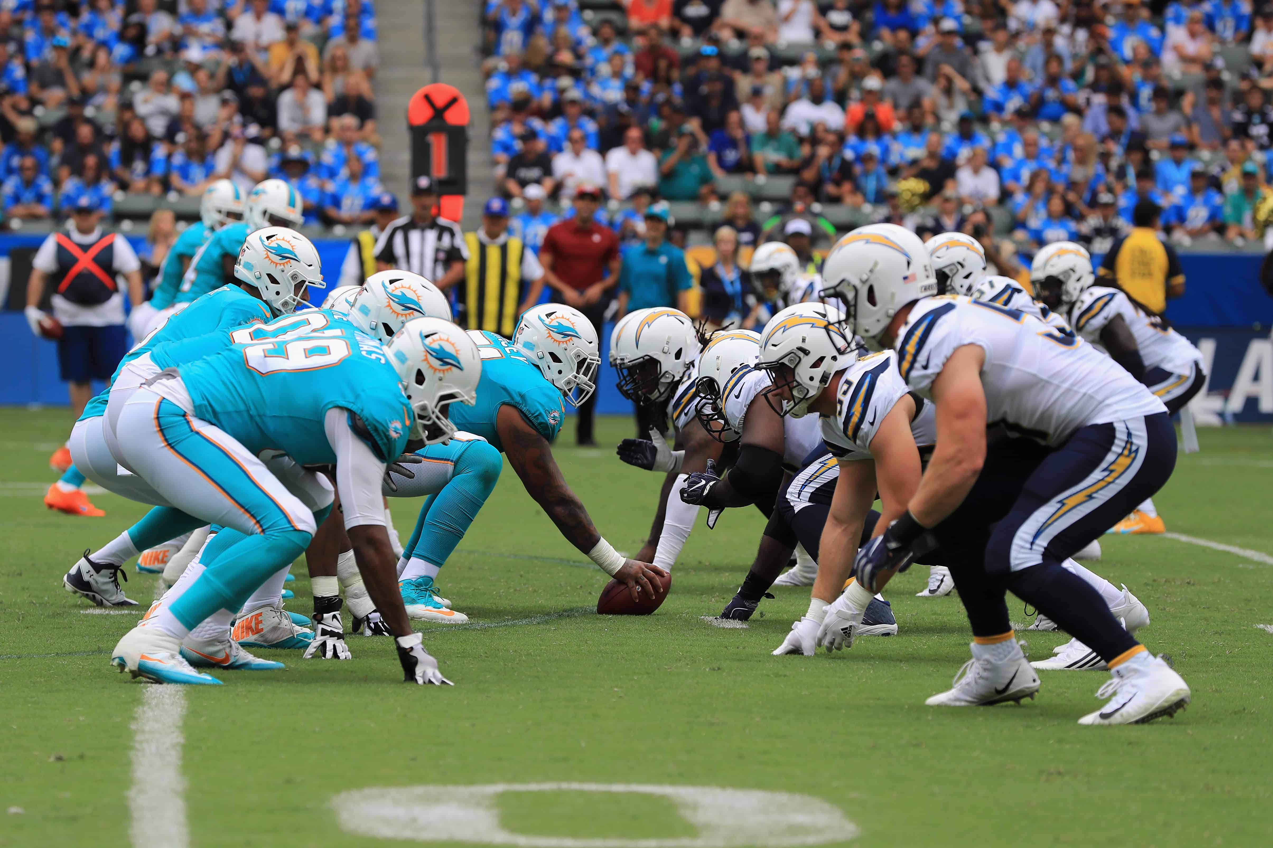
<instances>
[{"instance_id":1,"label":"seated crowd in upper-left stands, left of the concrete stairway","mask_svg":"<svg viewBox=\"0 0 1273 848\"><path fill-rule=\"evenodd\" d=\"M6 225L109 216L267 177L306 224L369 224L379 184L370 0L14 0L0 5Z\"/></svg>"}]
</instances>

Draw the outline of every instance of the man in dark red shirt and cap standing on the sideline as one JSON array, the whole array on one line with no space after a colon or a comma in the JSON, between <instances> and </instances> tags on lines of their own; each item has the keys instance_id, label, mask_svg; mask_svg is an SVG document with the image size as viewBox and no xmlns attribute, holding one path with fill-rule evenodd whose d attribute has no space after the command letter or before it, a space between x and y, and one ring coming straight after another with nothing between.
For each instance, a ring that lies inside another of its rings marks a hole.
<instances>
[{"instance_id":1,"label":"man in dark red shirt and cap standing on the sideline","mask_svg":"<svg viewBox=\"0 0 1273 848\"><path fill-rule=\"evenodd\" d=\"M596 221L600 203L601 189L579 186L574 193L574 217L550 226L540 247L540 264L552 289L552 299L582 311L596 328L597 338L602 337L602 318L611 291L619 284L619 236ZM579 407L577 437L580 445L597 444L592 439L596 403L593 393Z\"/></svg>"}]
</instances>

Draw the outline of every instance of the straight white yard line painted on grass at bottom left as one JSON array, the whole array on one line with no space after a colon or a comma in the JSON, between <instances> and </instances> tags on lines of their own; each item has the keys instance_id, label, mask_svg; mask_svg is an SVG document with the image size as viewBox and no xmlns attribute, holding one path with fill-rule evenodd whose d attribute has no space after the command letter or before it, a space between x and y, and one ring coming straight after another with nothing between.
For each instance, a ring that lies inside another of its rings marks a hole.
<instances>
[{"instance_id":1,"label":"straight white yard line painted on grass at bottom left","mask_svg":"<svg viewBox=\"0 0 1273 848\"><path fill-rule=\"evenodd\" d=\"M148 684L132 720L132 788L129 790L134 848L186 848L186 781L181 774L181 721L186 688Z\"/></svg>"}]
</instances>

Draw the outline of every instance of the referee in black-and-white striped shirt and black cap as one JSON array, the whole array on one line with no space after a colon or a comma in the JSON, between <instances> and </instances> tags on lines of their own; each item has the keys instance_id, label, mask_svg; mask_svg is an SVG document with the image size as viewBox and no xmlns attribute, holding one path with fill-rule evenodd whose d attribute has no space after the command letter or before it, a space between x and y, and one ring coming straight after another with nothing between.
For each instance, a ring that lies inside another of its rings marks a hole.
<instances>
[{"instance_id":1,"label":"referee in black-and-white striped shirt and black cap","mask_svg":"<svg viewBox=\"0 0 1273 848\"><path fill-rule=\"evenodd\" d=\"M446 291L465 278L468 248L460 225L433 214L438 192L428 177L411 183L410 215L395 220L376 243L378 271L410 271Z\"/></svg>"}]
</instances>

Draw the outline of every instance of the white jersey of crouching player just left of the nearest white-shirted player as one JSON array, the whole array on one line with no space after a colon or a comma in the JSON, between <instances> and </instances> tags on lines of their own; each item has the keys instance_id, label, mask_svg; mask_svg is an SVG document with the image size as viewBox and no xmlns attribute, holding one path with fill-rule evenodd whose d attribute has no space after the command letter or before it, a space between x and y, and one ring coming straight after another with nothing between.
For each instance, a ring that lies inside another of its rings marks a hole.
<instances>
[{"instance_id":1,"label":"white jersey of crouching player just left of the nearest white-shirted player","mask_svg":"<svg viewBox=\"0 0 1273 848\"><path fill-rule=\"evenodd\" d=\"M897 373L897 355L882 351L863 357L845 369L835 398L835 416L821 420L822 440L840 459L871 459L871 440L892 407L910 393ZM917 399L917 414L910 422L915 446L923 451L937 442L936 407Z\"/></svg>"}]
</instances>

